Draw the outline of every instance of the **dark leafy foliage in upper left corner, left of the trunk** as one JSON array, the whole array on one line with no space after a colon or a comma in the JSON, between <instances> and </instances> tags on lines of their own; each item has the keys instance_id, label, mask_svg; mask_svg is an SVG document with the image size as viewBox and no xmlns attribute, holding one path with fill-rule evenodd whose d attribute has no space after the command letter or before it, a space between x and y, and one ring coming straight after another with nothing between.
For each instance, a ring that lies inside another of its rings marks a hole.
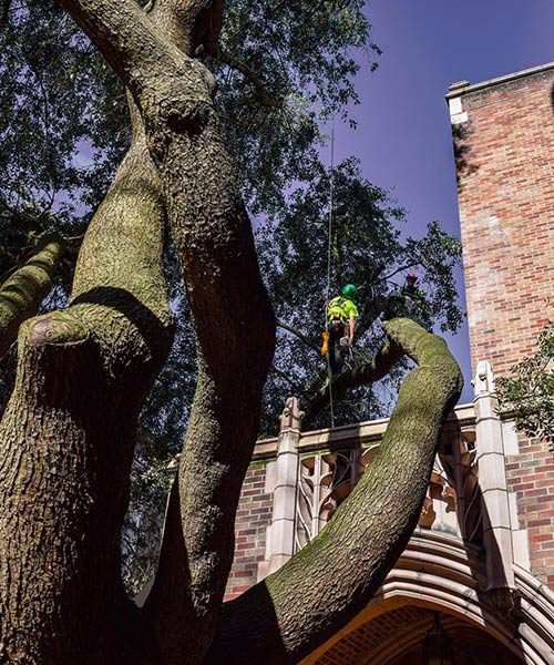
<instances>
[{"instance_id":1,"label":"dark leafy foliage in upper left corner, left of the trunk","mask_svg":"<svg viewBox=\"0 0 554 665\"><path fill-rule=\"evenodd\" d=\"M0 50L3 279L44 232L80 239L130 133L122 84L57 2L4 2Z\"/></svg>"}]
</instances>

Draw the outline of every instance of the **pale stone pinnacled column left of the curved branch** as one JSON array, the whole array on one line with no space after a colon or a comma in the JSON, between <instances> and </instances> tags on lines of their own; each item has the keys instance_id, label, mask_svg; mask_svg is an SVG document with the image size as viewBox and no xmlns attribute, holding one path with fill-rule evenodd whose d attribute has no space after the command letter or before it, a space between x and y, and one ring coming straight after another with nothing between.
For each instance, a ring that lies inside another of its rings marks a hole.
<instances>
[{"instance_id":1,"label":"pale stone pinnacled column left of the curved branch","mask_svg":"<svg viewBox=\"0 0 554 665\"><path fill-rule=\"evenodd\" d=\"M298 443L302 417L298 399L289 397L280 416L280 432L274 471L273 516L266 549L266 561L269 562L268 573L279 569L295 553Z\"/></svg>"}]
</instances>

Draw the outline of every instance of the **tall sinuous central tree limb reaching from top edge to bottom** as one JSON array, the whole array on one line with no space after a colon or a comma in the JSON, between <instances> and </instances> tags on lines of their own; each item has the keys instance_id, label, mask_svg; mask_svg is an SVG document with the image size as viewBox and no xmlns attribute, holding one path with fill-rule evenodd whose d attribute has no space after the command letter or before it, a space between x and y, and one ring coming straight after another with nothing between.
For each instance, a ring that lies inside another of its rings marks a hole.
<instances>
[{"instance_id":1,"label":"tall sinuous central tree limb reaching from top edge to bottom","mask_svg":"<svg viewBox=\"0 0 554 665\"><path fill-rule=\"evenodd\" d=\"M191 52L216 2L60 0L122 76L144 121L197 330L198 383L181 458L178 498L187 590L160 567L144 612L167 662L197 663L209 644L233 560L234 516L259 422L275 321L252 228L226 154L206 68L155 23L181 8ZM160 20L164 16L160 13ZM177 30L177 31L178 31ZM184 45L182 45L184 44ZM245 297L245 294L248 294ZM181 613L161 611L178 596ZM178 626L177 628L175 626Z\"/></svg>"}]
</instances>

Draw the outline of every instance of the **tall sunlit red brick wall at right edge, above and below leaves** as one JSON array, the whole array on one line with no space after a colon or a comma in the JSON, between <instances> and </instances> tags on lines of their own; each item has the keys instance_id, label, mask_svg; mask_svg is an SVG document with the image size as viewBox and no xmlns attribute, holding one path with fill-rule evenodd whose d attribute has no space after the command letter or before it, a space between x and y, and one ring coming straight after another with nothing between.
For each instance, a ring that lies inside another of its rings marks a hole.
<instances>
[{"instance_id":1,"label":"tall sunlit red brick wall at right edge, above and below leaves","mask_svg":"<svg viewBox=\"0 0 554 665\"><path fill-rule=\"evenodd\" d=\"M472 364L503 375L554 317L554 65L451 90ZM522 438L506 472L532 572L554 587L553 454Z\"/></svg>"}]
</instances>

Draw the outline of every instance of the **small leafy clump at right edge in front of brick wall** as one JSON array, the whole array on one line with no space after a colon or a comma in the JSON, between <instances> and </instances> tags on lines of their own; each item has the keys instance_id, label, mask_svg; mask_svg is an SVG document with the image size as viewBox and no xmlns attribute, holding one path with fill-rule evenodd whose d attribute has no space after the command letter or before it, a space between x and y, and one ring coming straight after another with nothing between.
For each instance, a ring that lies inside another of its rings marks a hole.
<instances>
[{"instance_id":1,"label":"small leafy clump at right edge in front of brick wall","mask_svg":"<svg viewBox=\"0 0 554 665\"><path fill-rule=\"evenodd\" d=\"M554 446L554 323L537 339L534 356L511 368L510 377L496 378L500 408L510 411L519 430Z\"/></svg>"}]
</instances>

